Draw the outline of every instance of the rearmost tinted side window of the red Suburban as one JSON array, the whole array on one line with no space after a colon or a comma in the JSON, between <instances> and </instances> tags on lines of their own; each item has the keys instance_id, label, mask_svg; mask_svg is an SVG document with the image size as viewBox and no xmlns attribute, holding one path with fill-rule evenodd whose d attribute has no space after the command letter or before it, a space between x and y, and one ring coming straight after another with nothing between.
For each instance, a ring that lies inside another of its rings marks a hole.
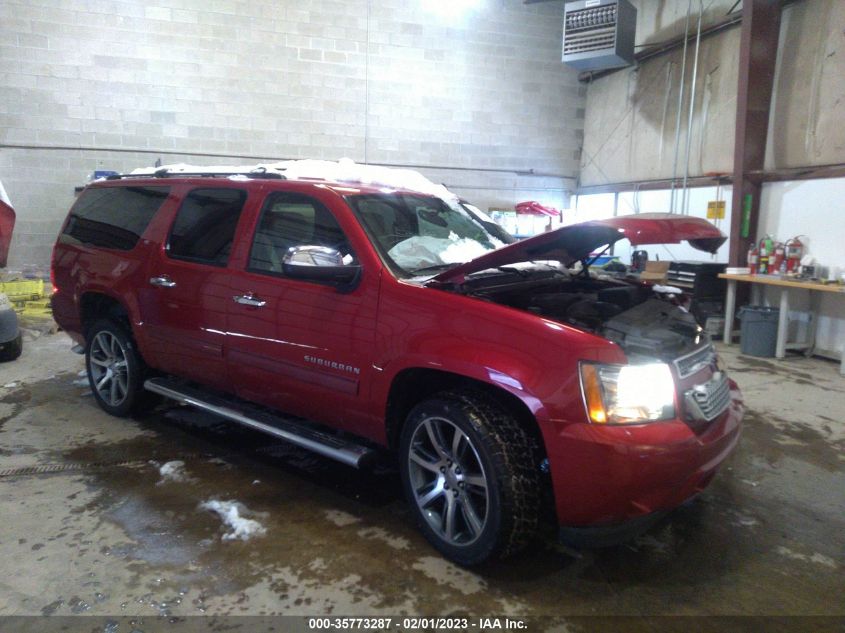
<instances>
[{"instance_id":1,"label":"rearmost tinted side window of the red Suburban","mask_svg":"<svg viewBox=\"0 0 845 633\"><path fill-rule=\"evenodd\" d=\"M169 187L87 189L71 209L61 241L132 250L169 193Z\"/></svg>"}]
</instances>

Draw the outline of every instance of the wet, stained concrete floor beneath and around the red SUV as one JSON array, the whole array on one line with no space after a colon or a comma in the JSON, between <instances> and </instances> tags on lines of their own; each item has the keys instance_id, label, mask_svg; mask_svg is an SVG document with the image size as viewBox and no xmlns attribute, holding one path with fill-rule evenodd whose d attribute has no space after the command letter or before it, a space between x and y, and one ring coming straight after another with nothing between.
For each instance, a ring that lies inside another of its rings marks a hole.
<instances>
[{"instance_id":1,"label":"wet, stained concrete floor beneath and around the red SUV","mask_svg":"<svg viewBox=\"0 0 845 633\"><path fill-rule=\"evenodd\" d=\"M627 544L549 534L467 571L415 530L392 468L357 472L183 407L111 418L69 348L42 336L0 365L0 616L845 616L835 363L723 348L748 413L707 491ZM265 533L226 538L211 500Z\"/></svg>"}]
</instances>

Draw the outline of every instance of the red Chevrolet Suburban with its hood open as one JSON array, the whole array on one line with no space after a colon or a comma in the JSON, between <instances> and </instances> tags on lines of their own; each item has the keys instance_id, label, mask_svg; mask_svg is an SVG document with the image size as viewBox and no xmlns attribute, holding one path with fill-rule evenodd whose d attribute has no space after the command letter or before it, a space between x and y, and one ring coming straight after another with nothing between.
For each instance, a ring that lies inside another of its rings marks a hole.
<instances>
[{"instance_id":1,"label":"red Chevrolet Suburban with its hood open","mask_svg":"<svg viewBox=\"0 0 845 633\"><path fill-rule=\"evenodd\" d=\"M739 392L694 318L591 271L623 238L725 240L638 215L505 245L419 192L161 170L85 189L53 309L107 412L151 392L352 466L390 450L425 536L471 565L519 550L547 503L571 533L645 524L737 442Z\"/></svg>"}]
</instances>

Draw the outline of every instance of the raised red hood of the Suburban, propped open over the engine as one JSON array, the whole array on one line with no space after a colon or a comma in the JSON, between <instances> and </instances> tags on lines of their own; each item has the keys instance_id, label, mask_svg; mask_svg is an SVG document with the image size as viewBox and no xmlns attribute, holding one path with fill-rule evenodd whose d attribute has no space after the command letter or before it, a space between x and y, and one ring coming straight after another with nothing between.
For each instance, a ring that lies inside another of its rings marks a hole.
<instances>
[{"instance_id":1,"label":"raised red hood of the Suburban, propped open over the engine","mask_svg":"<svg viewBox=\"0 0 845 633\"><path fill-rule=\"evenodd\" d=\"M707 220L669 213L640 213L607 220L564 226L476 257L434 277L444 283L461 283L467 275L508 264L554 260L571 266L597 248L628 239L641 244L680 244L715 253L727 236Z\"/></svg>"}]
</instances>

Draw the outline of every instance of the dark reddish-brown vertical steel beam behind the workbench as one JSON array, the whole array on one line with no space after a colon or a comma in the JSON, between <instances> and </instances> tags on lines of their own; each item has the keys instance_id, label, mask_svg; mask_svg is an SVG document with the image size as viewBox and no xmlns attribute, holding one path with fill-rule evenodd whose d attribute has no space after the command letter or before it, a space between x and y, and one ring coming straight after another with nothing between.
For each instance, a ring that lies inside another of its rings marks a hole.
<instances>
[{"instance_id":1,"label":"dark reddish-brown vertical steel beam behind the workbench","mask_svg":"<svg viewBox=\"0 0 845 633\"><path fill-rule=\"evenodd\" d=\"M757 235L766 137L775 79L780 0L744 0L739 45L730 264L744 266Z\"/></svg>"}]
</instances>

